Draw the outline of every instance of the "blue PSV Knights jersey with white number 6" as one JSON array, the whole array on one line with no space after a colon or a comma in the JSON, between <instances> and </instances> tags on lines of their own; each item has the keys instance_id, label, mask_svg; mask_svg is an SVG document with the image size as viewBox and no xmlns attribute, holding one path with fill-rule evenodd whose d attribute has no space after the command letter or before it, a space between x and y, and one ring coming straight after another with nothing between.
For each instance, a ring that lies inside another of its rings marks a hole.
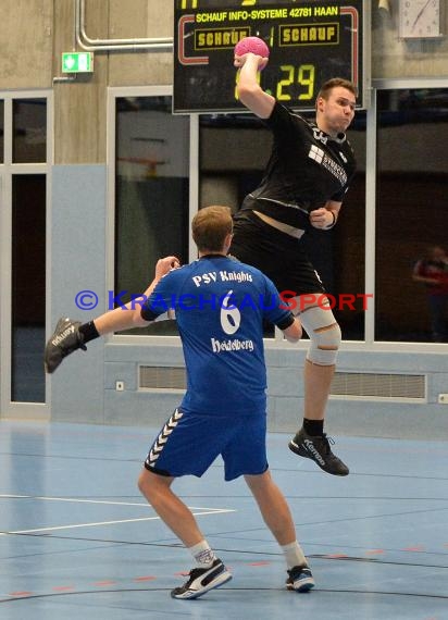
<instances>
[{"instance_id":1,"label":"blue PSV Knights jersey with white number 6","mask_svg":"<svg viewBox=\"0 0 448 620\"><path fill-rule=\"evenodd\" d=\"M184 412L203 416L265 412L263 320L286 328L293 314L258 269L210 255L171 271L141 315L173 308L184 347Z\"/></svg>"}]
</instances>

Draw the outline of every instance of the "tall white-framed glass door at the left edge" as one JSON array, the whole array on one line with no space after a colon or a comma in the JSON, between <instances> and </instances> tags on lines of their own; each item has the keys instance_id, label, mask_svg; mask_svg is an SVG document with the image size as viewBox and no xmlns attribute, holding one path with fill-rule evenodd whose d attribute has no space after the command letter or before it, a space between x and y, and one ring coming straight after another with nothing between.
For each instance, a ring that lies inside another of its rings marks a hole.
<instances>
[{"instance_id":1,"label":"tall white-framed glass door at the left edge","mask_svg":"<svg viewBox=\"0 0 448 620\"><path fill-rule=\"evenodd\" d=\"M52 94L2 92L2 414L46 412L47 200L52 163ZM38 405L36 409L33 405Z\"/></svg>"}]
</instances>

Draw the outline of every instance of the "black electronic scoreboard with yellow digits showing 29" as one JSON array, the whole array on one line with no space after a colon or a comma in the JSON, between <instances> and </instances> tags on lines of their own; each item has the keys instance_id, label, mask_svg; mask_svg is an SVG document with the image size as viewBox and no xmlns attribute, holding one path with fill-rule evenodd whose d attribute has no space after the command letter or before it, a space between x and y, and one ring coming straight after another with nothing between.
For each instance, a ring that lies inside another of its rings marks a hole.
<instances>
[{"instance_id":1,"label":"black electronic scoreboard with yellow digits showing 29","mask_svg":"<svg viewBox=\"0 0 448 620\"><path fill-rule=\"evenodd\" d=\"M261 87L312 110L321 85L352 80L364 108L364 0L175 0L173 112L242 111L233 50L244 37L269 46Z\"/></svg>"}]
</instances>

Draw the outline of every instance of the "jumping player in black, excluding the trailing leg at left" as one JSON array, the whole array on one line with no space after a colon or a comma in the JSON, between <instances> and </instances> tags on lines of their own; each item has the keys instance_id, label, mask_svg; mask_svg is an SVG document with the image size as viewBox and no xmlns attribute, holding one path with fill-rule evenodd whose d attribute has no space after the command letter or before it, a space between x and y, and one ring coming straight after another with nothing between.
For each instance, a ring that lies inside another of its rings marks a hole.
<instances>
[{"instance_id":1,"label":"jumping player in black, excluding the trailing leg at left","mask_svg":"<svg viewBox=\"0 0 448 620\"><path fill-rule=\"evenodd\" d=\"M334 475L348 467L333 454L324 432L325 408L340 344L339 325L322 294L324 286L301 241L311 227L329 231L337 222L356 161L346 137L354 116L357 89L343 78L326 82L309 123L262 90L257 73L267 59L235 55L238 96L273 133L273 148L260 186L235 215L231 253L263 271L291 296L310 337L304 364L303 423L289 448ZM319 302L316 300L319 299Z\"/></svg>"}]
</instances>

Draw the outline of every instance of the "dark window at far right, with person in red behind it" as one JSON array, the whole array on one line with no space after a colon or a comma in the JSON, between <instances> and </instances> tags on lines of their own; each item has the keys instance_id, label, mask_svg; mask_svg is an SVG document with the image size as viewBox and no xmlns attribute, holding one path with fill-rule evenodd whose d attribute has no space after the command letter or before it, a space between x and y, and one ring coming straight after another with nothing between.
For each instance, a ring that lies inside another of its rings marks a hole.
<instances>
[{"instance_id":1,"label":"dark window at far right, with person in red behind it","mask_svg":"<svg viewBox=\"0 0 448 620\"><path fill-rule=\"evenodd\" d=\"M431 286L413 278L419 259L434 246L448 251L446 187L448 89L396 89L377 94L376 290L377 340L444 340L434 328ZM438 276L437 276L438 277ZM441 274L440 277L444 277ZM443 290L441 290L443 293ZM443 306L443 298L438 300Z\"/></svg>"}]
</instances>

